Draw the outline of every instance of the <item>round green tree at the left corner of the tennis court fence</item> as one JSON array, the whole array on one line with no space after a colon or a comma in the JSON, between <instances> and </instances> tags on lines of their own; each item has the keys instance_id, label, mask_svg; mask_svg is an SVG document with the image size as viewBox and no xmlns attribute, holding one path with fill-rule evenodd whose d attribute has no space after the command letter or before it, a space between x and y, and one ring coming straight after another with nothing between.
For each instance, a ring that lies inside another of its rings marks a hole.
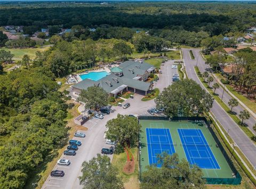
<instances>
[{"instance_id":1,"label":"round green tree at the left corner of the tennis court fence","mask_svg":"<svg viewBox=\"0 0 256 189\"><path fill-rule=\"evenodd\" d=\"M137 119L128 115L117 115L117 118L110 119L106 127L108 139L118 141L123 148L133 147L138 142L138 133L141 125Z\"/></svg>"}]
</instances>

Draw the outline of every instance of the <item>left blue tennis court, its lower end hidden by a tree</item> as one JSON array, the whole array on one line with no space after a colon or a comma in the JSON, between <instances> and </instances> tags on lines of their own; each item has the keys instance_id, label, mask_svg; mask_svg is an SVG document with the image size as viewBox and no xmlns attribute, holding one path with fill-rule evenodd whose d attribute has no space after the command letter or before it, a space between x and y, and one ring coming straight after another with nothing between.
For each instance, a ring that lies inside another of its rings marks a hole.
<instances>
[{"instance_id":1,"label":"left blue tennis court, its lower end hidden by a tree","mask_svg":"<svg viewBox=\"0 0 256 189\"><path fill-rule=\"evenodd\" d=\"M146 128L149 165L158 164L157 154L175 153L169 128Z\"/></svg>"}]
</instances>

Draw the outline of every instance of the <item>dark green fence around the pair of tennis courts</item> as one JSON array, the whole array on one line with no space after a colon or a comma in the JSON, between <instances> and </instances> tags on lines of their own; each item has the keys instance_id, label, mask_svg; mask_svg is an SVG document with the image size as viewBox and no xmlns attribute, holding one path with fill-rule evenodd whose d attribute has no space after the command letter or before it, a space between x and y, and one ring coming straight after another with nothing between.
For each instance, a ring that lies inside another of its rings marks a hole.
<instances>
[{"instance_id":1,"label":"dark green fence around the pair of tennis courts","mask_svg":"<svg viewBox=\"0 0 256 189\"><path fill-rule=\"evenodd\" d=\"M205 117L156 117L156 116L139 116L138 117L138 122L140 119L144 120L161 120L161 121L195 121L197 123L202 123L206 124L207 128L209 129L210 133L213 136L213 139L215 142L218 144L218 147L220 148L223 156L225 157L226 161L228 162L228 165L230 166L231 170L233 171L233 178L209 178L205 177L204 179L206 180L207 184L229 184L229 185L239 185L241 184L242 177L238 173L237 169L235 168L233 162L231 161L231 157L228 156L226 150L223 148L221 142L219 141L217 135L215 135L213 128L210 126L210 122L207 121ZM203 122L202 122L203 121ZM140 179L141 179L141 153L140 153L140 148L139 147L139 169L140 169Z\"/></svg>"}]
</instances>

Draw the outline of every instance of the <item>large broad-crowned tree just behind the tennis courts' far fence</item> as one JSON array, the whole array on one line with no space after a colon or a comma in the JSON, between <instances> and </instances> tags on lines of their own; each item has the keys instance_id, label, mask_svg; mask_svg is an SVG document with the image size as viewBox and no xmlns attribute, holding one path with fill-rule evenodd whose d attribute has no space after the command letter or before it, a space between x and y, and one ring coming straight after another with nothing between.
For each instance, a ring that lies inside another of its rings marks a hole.
<instances>
[{"instance_id":1,"label":"large broad-crowned tree just behind the tennis courts' far fence","mask_svg":"<svg viewBox=\"0 0 256 189\"><path fill-rule=\"evenodd\" d=\"M209 111L213 98L193 80L182 80L169 85L155 99L157 108L164 108L167 116L198 116Z\"/></svg>"}]
</instances>

